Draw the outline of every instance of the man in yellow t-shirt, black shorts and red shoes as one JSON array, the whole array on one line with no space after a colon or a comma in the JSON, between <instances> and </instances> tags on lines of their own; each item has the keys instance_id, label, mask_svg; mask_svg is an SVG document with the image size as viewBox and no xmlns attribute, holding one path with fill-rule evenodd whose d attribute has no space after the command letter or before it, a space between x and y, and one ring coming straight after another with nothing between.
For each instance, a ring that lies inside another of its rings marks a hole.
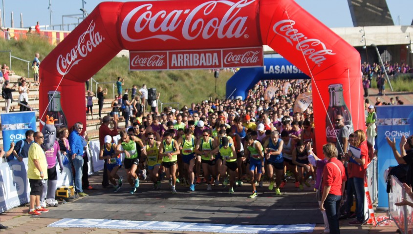
<instances>
[{"instance_id":1,"label":"man in yellow t-shirt, black shorts and red shoes","mask_svg":"<svg viewBox=\"0 0 413 234\"><path fill-rule=\"evenodd\" d=\"M44 151L40 146L43 144L43 133L34 133L34 143L29 148L27 177L30 184L30 208L29 215L39 216L49 210L40 206L40 196L43 193L43 183L47 179L47 162ZM36 205L36 207L35 207Z\"/></svg>"}]
</instances>

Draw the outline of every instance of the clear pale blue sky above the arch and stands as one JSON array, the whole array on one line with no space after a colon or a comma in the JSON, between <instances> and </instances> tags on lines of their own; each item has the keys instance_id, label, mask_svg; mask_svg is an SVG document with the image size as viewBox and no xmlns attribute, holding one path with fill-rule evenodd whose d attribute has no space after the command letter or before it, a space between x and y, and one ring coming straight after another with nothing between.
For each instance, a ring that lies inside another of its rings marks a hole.
<instances>
[{"instance_id":1,"label":"clear pale blue sky above the arch and stands","mask_svg":"<svg viewBox=\"0 0 413 234\"><path fill-rule=\"evenodd\" d=\"M14 25L20 27L20 14L23 14L23 26L34 26L36 21L41 25L50 24L49 1L52 8L52 24L61 24L63 15L82 14L82 0L2 0L4 3L6 27L10 27L11 11L14 14ZM85 3L86 2L86 3ZM102 0L83 0L87 12L91 12ZM305 10L322 21L328 27L352 27L347 0L297 0ZM395 24L411 25L413 20L413 0L387 0L391 16ZM0 5L1 18L3 7ZM65 18L65 23L77 22Z\"/></svg>"}]
</instances>

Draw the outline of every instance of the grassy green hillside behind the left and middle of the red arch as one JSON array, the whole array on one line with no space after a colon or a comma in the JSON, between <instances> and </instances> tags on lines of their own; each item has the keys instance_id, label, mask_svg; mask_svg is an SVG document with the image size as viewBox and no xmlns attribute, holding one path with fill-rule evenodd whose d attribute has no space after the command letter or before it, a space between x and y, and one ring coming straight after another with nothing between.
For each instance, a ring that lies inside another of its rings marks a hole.
<instances>
[{"instance_id":1,"label":"grassy green hillside behind the left and middle of the red arch","mask_svg":"<svg viewBox=\"0 0 413 234\"><path fill-rule=\"evenodd\" d=\"M18 41L0 40L0 51L5 51L0 53L0 62L10 66L8 50L12 50L12 56L32 61L35 53L40 53L40 59L43 60L53 48L46 40L36 36ZM27 76L27 62L12 58L11 63L11 70L18 75ZM31 62L29 65L30 77L32 77ZM113 58L93 78L98 82L115 82L117 77L124 77L124 89L131 88L133 84L140 87L144 83L148 88L156 88L161 93L159 99L163 103L179 102L182 106L209 98L223 98L225 96L225 84L232 75L232 72L229 71L219 73L217 94L215 94L216 78L209 70L135 72L129 71L128 58ZM102 86L108 87L109 97L112 97L112 85L104 84ZM93 91L95 89L93 84Z\"/></svg>"}]
</instances>

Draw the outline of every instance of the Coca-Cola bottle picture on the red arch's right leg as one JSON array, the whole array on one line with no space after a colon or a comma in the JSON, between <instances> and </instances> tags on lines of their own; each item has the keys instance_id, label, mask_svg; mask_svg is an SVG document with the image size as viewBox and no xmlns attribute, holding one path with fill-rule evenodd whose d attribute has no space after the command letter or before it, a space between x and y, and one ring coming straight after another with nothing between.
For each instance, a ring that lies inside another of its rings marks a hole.
<instances>
[{"instance_id":1,"label":"Coca-Cola bottle picture on the red arch's right leg","mask_svg":"<svg viewBox=\"0 0 413 234\"><path fill-rule=\"evenodd\" d=\"M338 133L338 129L335 127L336 116L343 116L344 127L348 128L350 133L353 132L353 123L346 102L344 101L343 85L330 84L328 85L328 92L330 93L330 103L326 116L326 136L327 142L336 143Z\"/></svg>"}]
</instances>

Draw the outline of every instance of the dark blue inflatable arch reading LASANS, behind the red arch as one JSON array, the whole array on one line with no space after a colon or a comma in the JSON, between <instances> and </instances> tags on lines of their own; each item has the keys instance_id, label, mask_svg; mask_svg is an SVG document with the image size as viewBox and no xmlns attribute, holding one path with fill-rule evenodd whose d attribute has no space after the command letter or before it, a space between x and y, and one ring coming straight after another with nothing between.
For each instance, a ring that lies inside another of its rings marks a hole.
<instances>
[{"instance_id":1,"label":"dark blue inflatable arch reading LASANS, behind the red arch","mask_svg":"<svg viewBox=\"0 0 413 234\"><path fill-rule=\"evenodd\" d=\"M300 69L284 58L264 58L263 67L241 68L226 85L226 98L245 99L258 81L265 79L309 79Z\"/></svg>"}]
</instances>

